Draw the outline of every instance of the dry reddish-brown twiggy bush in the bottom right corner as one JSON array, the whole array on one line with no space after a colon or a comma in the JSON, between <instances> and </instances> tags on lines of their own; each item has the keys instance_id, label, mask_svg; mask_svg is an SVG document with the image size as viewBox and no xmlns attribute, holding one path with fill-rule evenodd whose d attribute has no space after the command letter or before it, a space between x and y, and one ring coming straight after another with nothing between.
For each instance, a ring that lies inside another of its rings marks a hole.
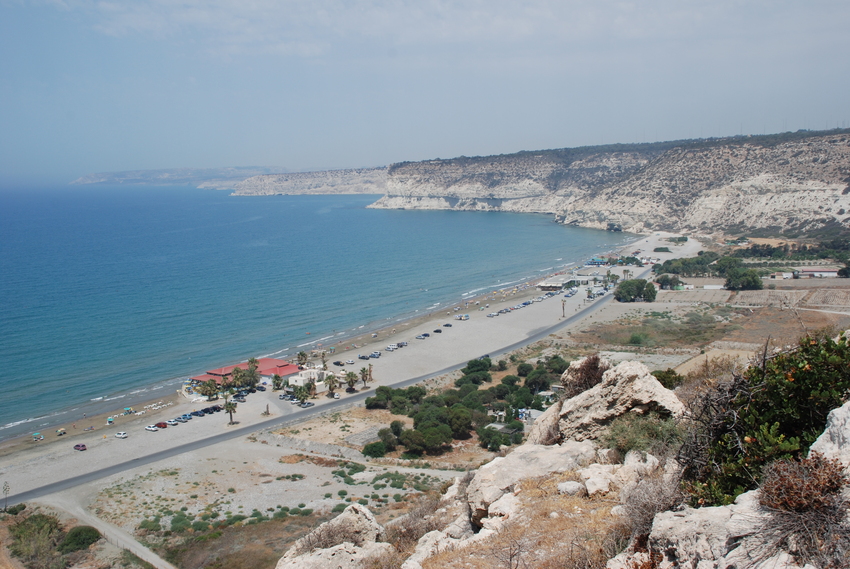
<instances>
[{"instance_id":1,"label":"dry reddish-brown twiggy bush in the bottom right corner","mask_svg":"<svg viewBox=\"0 0 850 569\"><path fill-rule=\"evenodd\" d=\"M841 463L818 453L767 465L759 493L759 502L770 511L759 532L767 554L784 550L800 565L847 567L850 504L842 495L846 484Z\"/></svg>"}]
</instances>

